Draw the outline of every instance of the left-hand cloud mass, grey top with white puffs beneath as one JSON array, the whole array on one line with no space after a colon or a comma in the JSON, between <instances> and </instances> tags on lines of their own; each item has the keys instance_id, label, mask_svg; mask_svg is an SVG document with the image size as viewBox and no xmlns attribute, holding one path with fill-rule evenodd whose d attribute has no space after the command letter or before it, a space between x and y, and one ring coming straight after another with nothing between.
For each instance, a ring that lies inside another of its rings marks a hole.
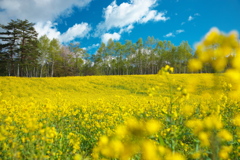
<instances>
[{"instance_id":1,"label":"left-hand cloud mass, grey top with white puffs beneath","mask_svg":"<svg viewBox=\"0 0 240 160\"><path fill-rule=\"evenodd\" d=\"M75 24L65 33L60 33L56 23L59 16L70 16L72 8L86 7L92 0L0 0L0 23L7 24L9 19L27 19L34 22L39 37L47 35L50 39L58 38L62 43L75 38L85 37L91 30L87 23Z\"/></svg>"}]
</instances>

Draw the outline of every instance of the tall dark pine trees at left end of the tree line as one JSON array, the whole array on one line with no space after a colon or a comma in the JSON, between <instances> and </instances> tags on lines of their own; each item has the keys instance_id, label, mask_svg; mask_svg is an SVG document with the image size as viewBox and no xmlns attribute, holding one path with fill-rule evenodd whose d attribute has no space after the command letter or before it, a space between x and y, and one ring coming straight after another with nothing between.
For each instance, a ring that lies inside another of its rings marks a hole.
<instances>
[{"instance_id":1,"label":"tall dark pine trees at left end of the tree line","mask_svg":"<svg viewBox=\"0 0 240 160\"><path fill-rule=\"evenodd\" d=\"M28 20L11 20L0 25L0 60L9 76L36 76L37 32Z\"/></svg>"}]
</instances>

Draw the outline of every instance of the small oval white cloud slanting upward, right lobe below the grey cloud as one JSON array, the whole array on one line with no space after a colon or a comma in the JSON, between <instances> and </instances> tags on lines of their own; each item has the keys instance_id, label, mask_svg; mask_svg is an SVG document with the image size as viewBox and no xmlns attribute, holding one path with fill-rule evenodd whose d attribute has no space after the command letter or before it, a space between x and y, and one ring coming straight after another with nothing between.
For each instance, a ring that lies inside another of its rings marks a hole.
<instances>
[{"instance_id":1,"label":"small oval white cloud slanting upward, right lobe below the grey cloud","mask_svg":"<svg viewBox=\"0 0 240 160\"><path fill-rule=\"evenodd\" d=\"M88 23L75 24L73 27L69 28L67 32L61 35L60 41L70 42L75 38L83 38L89 33L90 30L91 27L88 25Z\"/></svg>"}]
</instances>

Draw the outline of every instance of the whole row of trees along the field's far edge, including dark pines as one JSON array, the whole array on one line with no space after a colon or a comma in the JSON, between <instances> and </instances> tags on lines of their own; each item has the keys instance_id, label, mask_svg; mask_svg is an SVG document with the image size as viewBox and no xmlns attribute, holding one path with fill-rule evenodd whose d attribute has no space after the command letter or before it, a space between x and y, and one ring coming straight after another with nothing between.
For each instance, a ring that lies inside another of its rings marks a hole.
<instances>
[{"instance_id":1,"label":"whole row of trees along the field's far edge, including dark pines","mask_svg":"<svg viewBox=\"0 0 240 160\"><path fill-rule=\"evenodd\" d=\"M28 20L11 20L0 28L0 76L156 74L167 64L175 73L188 73L188 60L194 56L187 41L175 46L154 37L123 44L110 39L91 55L80 43L61 45L46 35L37 38Z\"/></svg>"}]
</instances>

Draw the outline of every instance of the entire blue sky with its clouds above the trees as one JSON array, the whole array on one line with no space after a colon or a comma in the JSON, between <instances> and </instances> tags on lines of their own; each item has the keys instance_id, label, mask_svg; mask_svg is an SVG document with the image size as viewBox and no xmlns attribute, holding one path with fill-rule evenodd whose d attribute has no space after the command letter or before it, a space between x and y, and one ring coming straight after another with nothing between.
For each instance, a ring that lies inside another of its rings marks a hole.
<instances>
[{"instance_id":1,"label":"entire blue sky with its clouds above the trees","mask_svg":"<svg viewBox=\"0 0 240 160\"><path fill-rule=\"evenodd\" d=\"M154 36L193 47L212 28L240 31L240 0L1 0L0 23L28 19L39 36L80 42L94 54L109 38Z\"/></svg>"}]
</instances>

